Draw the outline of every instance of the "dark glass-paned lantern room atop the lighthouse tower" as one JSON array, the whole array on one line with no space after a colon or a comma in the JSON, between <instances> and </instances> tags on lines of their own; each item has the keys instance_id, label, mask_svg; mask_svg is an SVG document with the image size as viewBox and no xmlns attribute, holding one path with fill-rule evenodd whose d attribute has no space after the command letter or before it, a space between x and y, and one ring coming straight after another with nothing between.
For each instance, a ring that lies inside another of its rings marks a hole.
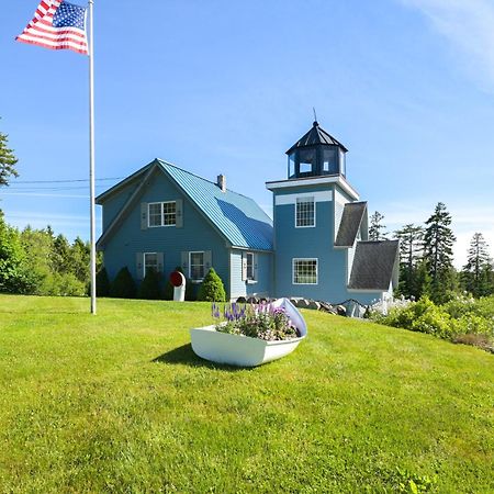
<instances>
[{"instance_id":1,"label":"dark glass-paned lantern room atop the lighthouse tower","mask_svg":"<svg viewBox=\"0 0 494 494\"><path fill-rule=\"evenodd\" d=\"M288 151L288 178L346 176L348 149L319 127L317 121Z\"/></svg>"}]
</instances>

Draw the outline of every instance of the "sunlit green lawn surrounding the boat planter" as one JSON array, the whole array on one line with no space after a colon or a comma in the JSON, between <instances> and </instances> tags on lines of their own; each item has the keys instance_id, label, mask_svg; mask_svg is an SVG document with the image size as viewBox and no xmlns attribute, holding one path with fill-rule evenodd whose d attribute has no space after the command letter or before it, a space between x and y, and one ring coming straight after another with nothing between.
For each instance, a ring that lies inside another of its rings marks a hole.
<instances>
[{"instance_id":1,"label":"sunlit green lawn surrounding the boat planter","mask_svg":"<svg viewBox=\"0 0 494 494\"><path fill-rule=\"evenodd\" d=\"M494 492L487 352L307 311L237 370L192 352L209 304L88 307L0 296L1 492Z\"/></svg>"}]
</instances>

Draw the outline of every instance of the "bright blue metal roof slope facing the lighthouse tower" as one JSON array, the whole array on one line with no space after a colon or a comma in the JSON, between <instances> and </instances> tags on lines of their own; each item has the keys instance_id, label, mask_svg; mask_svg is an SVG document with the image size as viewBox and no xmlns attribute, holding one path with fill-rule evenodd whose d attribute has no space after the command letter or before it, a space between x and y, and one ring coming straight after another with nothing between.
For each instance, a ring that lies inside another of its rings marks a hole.
<instances>
[{"instance_id":1,"label":"bright blue metal roof slope facing the lighthouse tower","mask_svg":"<svg viewBox=\"0 0 494 494\"><path fill-rule=\"evenodd\" d=\"M222 192L215 182L157 161L233 246L272 250L272 221L252 199Z\"/></svg>"}]
</instances>

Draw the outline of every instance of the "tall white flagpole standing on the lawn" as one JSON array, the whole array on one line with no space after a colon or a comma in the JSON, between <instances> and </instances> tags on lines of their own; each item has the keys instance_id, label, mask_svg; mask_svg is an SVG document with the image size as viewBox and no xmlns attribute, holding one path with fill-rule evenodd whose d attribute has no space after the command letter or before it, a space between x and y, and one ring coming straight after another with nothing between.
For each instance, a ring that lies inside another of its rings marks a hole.
<instances>
[{"instance_id":1,"label":"tall white flagpole standing on the lawn","mask_svg":"<svg viewBox=\"0 0 494 494\"><path fill-rule=\"evenodd\" d=\"M90 244L91 244L91 314L97 313L96 302L96 217L94 217L94 36L93 0L89 0L89 195L90 195Z\"/></svg>"}]
</instances>

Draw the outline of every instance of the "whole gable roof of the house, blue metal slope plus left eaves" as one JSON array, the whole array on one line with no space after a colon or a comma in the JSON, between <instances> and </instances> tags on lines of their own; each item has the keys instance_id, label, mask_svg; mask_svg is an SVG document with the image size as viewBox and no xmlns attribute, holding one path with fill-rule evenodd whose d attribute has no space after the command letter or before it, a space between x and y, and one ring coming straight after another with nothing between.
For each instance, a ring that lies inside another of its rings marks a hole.
<instances>
[{"instance_id":1,"label":"whole gable roof of the house, blue metal slope plus left eaves","mask_svg":"<svg viewBox=\"0 0 494 494\"><path fill-rule=\"evenodd\" d=\"M130 213L144 192L144 184L156 170L170 178L190 199L193 206L233 247L272 250L272 221L252 199L231 190L222 192L216 183L160 159L155 159L97 198L97 203L103 204L111 194L116 193L130 180L138 176L143 177L141 184L98 240L100 245L112 235Z\"/></svg>"}]
</instances>

